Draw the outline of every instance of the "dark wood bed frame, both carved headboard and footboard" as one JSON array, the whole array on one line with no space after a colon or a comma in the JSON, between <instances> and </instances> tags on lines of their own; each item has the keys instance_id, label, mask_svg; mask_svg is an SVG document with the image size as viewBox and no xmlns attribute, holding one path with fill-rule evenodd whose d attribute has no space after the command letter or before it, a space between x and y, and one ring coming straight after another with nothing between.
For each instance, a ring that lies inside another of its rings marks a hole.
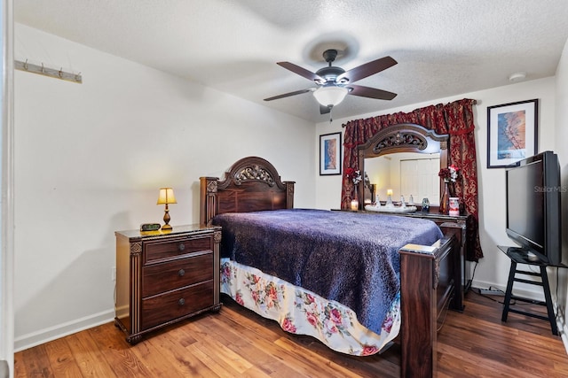
<instances>
[{"instance_id":1,"label":"dark wood bed frame, both carved headboard and footboard","mask_svg":"<svg viewBox=\"0 0 568 378\"><path fill-rule=\"evenodd\" d=\"M294 207L294 182L280 175L263 158L242 158L225 173L224 180L201 177L201 225L224 212L252 212ZM431 246L407 244L400 251L401 375L431 377L437 368L439 315L452 301L455 283L461 282L461 228ZM459 291L459 290L458 290ZM462 305L462 304L461 304Z\"/></svg>"}]
</instances>

